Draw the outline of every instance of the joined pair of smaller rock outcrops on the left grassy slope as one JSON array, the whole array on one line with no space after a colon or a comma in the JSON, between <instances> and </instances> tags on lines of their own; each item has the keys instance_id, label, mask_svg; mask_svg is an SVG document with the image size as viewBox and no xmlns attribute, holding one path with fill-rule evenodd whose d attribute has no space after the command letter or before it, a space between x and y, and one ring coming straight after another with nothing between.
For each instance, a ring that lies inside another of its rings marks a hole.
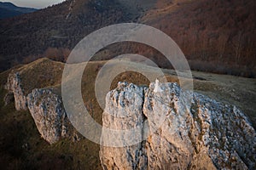
<instances>
[{"instance_id":1,"label":"joined pair of smaller rock outcrops on the left grassy slope","mask_svg":"<svg viewBox=\"0 0 256 170\"><path fill-rule=\"evenodd\" d=\"M6 95L5 102L8 103L13 94L16 110L28 109L30 111L38 127L38 132L49 144L66 137L75 136L76 139L79 139L78 134L73 131L73 127L68 122L61 97L53 90L35 88L30 94L25 95L19 72L9 74L6 88L9 90L9 94Z\"/></svg>"}]
</instances>

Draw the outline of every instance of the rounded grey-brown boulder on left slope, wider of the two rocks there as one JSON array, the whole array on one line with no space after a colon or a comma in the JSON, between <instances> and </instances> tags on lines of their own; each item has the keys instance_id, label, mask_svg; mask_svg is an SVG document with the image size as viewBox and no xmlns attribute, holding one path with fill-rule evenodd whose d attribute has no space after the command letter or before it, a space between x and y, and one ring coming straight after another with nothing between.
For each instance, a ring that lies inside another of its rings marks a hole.
<instances>
[{"instance_id":1,"label":"rounded grey-brown boulder on left slope, wider of the two rocks there","mask_svg":"<svg viewBox=\"0 0 256 170\"><path fill-rule=\"evenodd\" d=\"M39 133L49 144L67 135L67 115L58 95L49 89L36 88L26 99Z\"/></svg>"}]
</instances>

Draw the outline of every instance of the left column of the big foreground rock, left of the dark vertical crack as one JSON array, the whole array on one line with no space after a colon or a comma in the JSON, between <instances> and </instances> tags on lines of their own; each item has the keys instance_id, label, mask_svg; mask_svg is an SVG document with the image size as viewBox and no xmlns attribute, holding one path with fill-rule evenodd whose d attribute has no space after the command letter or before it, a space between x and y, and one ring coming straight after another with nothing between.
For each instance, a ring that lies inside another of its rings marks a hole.
<instances>
[{"instance_id":1,"label":"left column of the big foreground rock, left of the dark vertical crack","mask_svg":"<svg viewBox=\"0 0 256 170\"><path fill-rule=\"evenodd\" d=\"M143 137L143 99L144 89L133 84L120 83L119 87L107 96L106 109L103 112L104 127L125 130L139 127L139 133L129 136L130 139ZM140 126L141 125L141 126ZM116 140L112 133L102 135L103 142L107 139ZM121 136L120 138L125 138ZM121 144L125 145L125 140ZM116 144L119 145L119 144ZM100 150L102 167L104 169L146 169L147 156L145 143L138 143L127 147L103 147ZM113 156L114 155L114 156Z\"/></svg>"}]
</instances>

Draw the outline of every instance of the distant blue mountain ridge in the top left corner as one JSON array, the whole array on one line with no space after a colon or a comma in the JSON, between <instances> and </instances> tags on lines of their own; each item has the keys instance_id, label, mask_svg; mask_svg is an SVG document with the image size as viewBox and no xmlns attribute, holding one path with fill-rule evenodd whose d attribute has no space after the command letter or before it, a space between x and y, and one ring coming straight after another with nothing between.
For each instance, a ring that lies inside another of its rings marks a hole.
<instances>
[{"instance_id":1,"label":"distant blue mountain ridge in the top left corner","mask_svg":"<svg viewBox=\"0 0 256 170\"><path fill-rule=\"evenodd\" d=\"M37 10L37 8L17 7L13 3L0 2L0 19L14 17L20 14L32 13Z\"/></svg>"}]
</instances>

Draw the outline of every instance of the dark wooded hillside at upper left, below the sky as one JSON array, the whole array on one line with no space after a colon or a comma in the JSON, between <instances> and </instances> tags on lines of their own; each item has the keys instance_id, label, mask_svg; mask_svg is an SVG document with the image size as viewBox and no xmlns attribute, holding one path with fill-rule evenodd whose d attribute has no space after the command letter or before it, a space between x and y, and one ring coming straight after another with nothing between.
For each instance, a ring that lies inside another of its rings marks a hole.
<instances>
[{"instance_id":1,"label":"dark wooded hillside at upper left, below the sky","mask_svg":"<svg viewBox=\"0 0 256 170\"><path fill-rule=\"evenodd\" d=\"M37 59L47 48L73 48L81 38L102 26L125 21L115 1L67 0L59 5L0 20L1 71Z\"/></svg>"}]
</instances>

